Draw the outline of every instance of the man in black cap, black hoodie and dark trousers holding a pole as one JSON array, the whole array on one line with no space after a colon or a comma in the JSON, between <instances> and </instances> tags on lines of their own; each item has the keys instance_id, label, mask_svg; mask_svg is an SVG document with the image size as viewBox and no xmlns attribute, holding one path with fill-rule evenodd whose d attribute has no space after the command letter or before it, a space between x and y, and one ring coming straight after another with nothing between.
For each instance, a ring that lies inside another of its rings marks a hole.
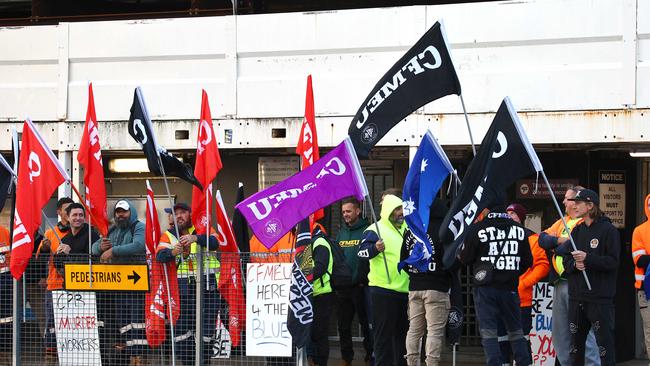
<instances>
[{"instance_id":1,"label":"man in black cap, black hoodie and dark trousers holding a pole","mask_svg":"<svg viewBox=\"0 0 650 366\"><path fill-rule=\"evenodd\" d=\"M598 207L598 194L579 191L572 199L575 217L583 218L571 235L577 250L564 255L569 282L569 330L573 365L585 364L585 341L594 330L600 364L615 365L614 295L621 240L618 230ZM570 245L569 242L563 244ZM587 274L591 290L582 272Z\"/></svg>"}]
</instances>

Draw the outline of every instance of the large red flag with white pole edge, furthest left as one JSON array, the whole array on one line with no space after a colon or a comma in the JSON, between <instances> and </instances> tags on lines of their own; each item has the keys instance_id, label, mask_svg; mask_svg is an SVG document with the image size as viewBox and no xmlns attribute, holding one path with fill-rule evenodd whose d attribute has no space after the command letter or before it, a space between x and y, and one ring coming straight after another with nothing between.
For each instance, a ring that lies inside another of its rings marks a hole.
<instances>
[{"instance_id":1,"label":"large red flag with white pole edge, furthest left","mask_svg":"<svg viewBox=\"0 0 650 366\"><path fill-rule=\"evenodd\" d=\"M19 280L34 249L34 233L41 225L41 210L54 190L70 177L45 144L30 120L23 124L23 143L18 164L16 210L11 245L11 274Z\"/></svg>"}]
</instances>

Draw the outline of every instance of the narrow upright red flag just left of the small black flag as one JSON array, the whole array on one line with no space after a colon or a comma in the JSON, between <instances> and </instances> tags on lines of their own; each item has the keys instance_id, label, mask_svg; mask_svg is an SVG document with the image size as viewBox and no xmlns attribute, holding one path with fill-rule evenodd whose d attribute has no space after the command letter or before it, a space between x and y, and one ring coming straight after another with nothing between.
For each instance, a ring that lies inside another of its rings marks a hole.
<instances>
[{"instance_id":1,"label":"narrow upright red flag just left of the small black flag","mask_svg":"<svg viewBox=\"0 0 650 366\"><path fill-rule=\"evenodd\" d=\"M95 99L93 84L88 85L88 110L86 124L81 136L77 161L84 167L84 185L86 186L86 206L90 210L91 224L102 236L108 233L108 217L106 216L106 184L104 183L104 166L102 165L102 150L99 146L97 131L97 116L95 116Z\"/></svg>"}]
</instances>

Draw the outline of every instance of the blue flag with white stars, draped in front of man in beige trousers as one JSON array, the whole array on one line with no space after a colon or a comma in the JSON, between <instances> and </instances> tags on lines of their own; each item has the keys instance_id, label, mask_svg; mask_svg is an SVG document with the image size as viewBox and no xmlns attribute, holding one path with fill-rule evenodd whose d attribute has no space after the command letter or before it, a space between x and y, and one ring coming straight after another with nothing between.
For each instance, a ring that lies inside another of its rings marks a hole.
<instances>
[{"instance_id":1,"label":"blue flag with white stars, draped in front of man in beige trousers","mask_svg":"<svg viewBox=\"0 0 650 366\"><path fill-rule=\"evenodd\" d=\"M429 208L449 174L455 175L449 158L431 131L427 131L404 182L404 219L417 243L409 257L399 263L400 270L407 264L419 271L427 270L433 253L427 237Z\"/></svg>"}]
</instances>

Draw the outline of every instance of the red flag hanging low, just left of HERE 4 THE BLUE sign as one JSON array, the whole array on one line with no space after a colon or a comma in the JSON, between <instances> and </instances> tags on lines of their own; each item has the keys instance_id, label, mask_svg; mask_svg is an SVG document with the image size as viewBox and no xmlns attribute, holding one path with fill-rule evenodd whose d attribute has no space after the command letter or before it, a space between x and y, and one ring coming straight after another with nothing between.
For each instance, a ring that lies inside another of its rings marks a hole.
<instances>
[{"instance_id":1,"label":"red flag hanging low, just left of HERE 4 THE BLUE sign","mask_svg":"<svg viewBox=\"0 0 650 366\"><path fill-rule=\"evenodd\" d=\"M217 190L217 231L219 233L219 250L221 251L221 276L219 276L219 292L228 303L228 322L230 340L233 347L241 341L241 327L246 324L244 313L244 296L242 290L242 273L239 261L239 247L235 240L232 224L228 220L226 209Z\"/></svg>"}]
</instances>

